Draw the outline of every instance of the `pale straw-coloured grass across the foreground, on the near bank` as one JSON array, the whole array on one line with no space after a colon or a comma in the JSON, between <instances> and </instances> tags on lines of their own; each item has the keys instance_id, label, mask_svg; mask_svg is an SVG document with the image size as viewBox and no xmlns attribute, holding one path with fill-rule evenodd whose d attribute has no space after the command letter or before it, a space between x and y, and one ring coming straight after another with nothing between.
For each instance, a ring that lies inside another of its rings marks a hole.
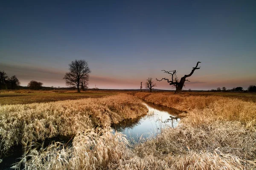
<instances>
[{"instance_id":1,"label":"pale straw-coloured grass across the foreground, on the near bank","mask_svg":"<svg viewBox=\"0 0 256 170\"><path fill-rule=\"evenodd\" d=\"M241 124L224 123L224 126L220 125L224 128L219 128L219 123L216 122L212 130L190 125L165 130L157 139L137 144L134 148L127 147L128 142L120 133L113 134L108 129L87 130L77 134L70 148L57 142L41 150L31 150L21 161L27 169L42 170L255 168L256 147L250 140L256 138L256 133L247 137ZM230 133L230 130L236 131Z\"/></svg>"}]
</instances>

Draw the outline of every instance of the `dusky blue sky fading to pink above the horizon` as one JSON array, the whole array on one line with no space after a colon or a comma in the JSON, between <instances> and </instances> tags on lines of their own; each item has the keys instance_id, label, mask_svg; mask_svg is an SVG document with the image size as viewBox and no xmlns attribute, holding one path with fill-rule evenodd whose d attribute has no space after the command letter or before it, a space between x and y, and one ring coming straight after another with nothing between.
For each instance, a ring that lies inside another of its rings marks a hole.
<instances>
[{"instance_id":1,"label":"dusky blue sky fading to pink above the horizon","mask_svg":"<svg viewBox=\"0 0 256 170\"><path fill-rule=\"evenodd\" d=\"M66 87L68 64L85 59L89 87L137 89L161 70L189 77L186 90L256 85L255 0L83 0L0 4L0 70ZM167 82L158 89L171 90Z\"/></svg>"}]
</instances>

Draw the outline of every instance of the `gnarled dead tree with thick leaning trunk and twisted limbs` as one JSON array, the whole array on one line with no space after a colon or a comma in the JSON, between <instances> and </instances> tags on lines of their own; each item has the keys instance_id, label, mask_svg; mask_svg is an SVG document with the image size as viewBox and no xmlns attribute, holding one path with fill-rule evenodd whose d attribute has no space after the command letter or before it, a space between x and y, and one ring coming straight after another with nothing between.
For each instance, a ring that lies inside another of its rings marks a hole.
<instances>
[{"instance_id":1,"label":"gnarled dead tree with thick leaning trunk and twisted limbs","mask_svg":"<svg viewBox=\"0 0 256 170\"><path fill-rule=\"evenodd\" d=\"M167 80L167 82L169 82L170 85L173 86L173 88L176 88L175 94L178 94L178 93L180 93L180 92L182 91L183 86L185 86L185 85L184 85L185 82L186 82L186 81L189 82L189 80L186 79L186 78L192 76L192 74L194 73L195 70L200 69L200 67L198 67L198 64L199 64L199 63L201 63L201 62L197 62L196 66L193 67L191 73L188 74L188 75L184 75L183 77L181 77L180 81L179 81L179 79L178 79L177 76L176 76L176 73L177 73L176 70L174 70L174 71L165 71L165 70L161 70L161 71L164 71L164 73L171 74L172 79L169 80L169 79L166 79L166 78L162 78L162 79L160 79L160 80L157 79L157 81Z\"/></svg>"}]
</instances>

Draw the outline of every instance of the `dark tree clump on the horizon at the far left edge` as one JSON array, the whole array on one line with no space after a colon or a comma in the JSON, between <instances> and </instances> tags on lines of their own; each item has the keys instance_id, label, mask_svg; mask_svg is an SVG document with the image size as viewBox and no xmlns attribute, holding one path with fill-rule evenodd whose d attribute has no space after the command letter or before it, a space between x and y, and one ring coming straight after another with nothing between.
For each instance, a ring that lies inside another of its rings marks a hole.
<instances>
[{"instance_id":1,"label":"dark tree clump on the horizon at the far left edge","mask_svg":"<svg viewBox=\"0 0 256 170\"><path fill-rule=\"evenodd\" d=\"M8 77L5 71L0 71L0 89L19 89L20 81L16 76Z\"/></svg>"}]
</instances>

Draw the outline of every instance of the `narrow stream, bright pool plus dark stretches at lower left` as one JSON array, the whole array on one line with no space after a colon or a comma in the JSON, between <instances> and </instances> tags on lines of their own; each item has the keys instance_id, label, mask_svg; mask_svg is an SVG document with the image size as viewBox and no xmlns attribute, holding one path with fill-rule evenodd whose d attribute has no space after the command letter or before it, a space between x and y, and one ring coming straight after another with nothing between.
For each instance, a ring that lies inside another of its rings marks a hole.
<instances>
[{"instance_id":1,"label":"narrow stream, bright pool plus dark stretches at lower left","mask_svg":"<svg viewBox=\"0 0 256 170\"><path fill-rule=\"evenodd\" d=\"M149 102L144 102L148 108L148 113L138 119L126 119L118 124L112 125L113 133L118 131L126 135L126 138L131 143L143 142L148 137L156 137L162 129L166 127L176 127L180 122L178 111L173 108L168 108L161 105L154 105ZM45 146L52 141L69 143L72 145L71 137L56 136L45 140ZM9 170L13 163L19 161L22 155L22 146L17 145L9 151L9 156L5 156L3 162L0 162L0 170ZM21 168L22 169L22 168Z\"/></svg>"}]
</instances>

